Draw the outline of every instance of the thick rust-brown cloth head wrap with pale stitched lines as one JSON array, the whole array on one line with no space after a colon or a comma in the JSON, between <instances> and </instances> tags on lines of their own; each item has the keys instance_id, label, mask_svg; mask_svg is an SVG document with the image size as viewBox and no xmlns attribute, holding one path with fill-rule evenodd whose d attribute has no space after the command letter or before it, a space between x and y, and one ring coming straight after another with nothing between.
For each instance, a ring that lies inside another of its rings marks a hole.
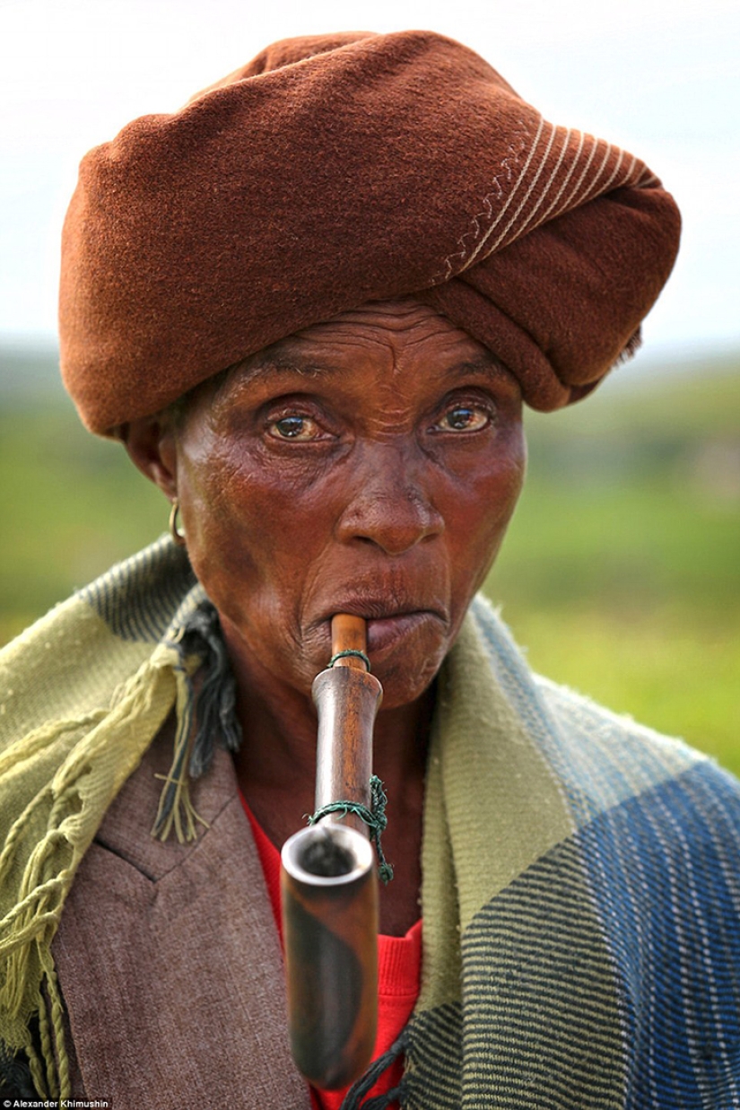
<instances>
[{"instance_id":1,"label":"thick rust-brown cloth head wrap with pale stitched lines","mask_svg":"<svg viewBox=\"0 0 740 1110\"><path fill-rule=\"evenodd\" d=\"M302 327L414 294L556 408L636 344L678 235L641 161L547 123L459 43L291 39L83 160L62 373L110 433Z\"/></svg>"}]
</instances>

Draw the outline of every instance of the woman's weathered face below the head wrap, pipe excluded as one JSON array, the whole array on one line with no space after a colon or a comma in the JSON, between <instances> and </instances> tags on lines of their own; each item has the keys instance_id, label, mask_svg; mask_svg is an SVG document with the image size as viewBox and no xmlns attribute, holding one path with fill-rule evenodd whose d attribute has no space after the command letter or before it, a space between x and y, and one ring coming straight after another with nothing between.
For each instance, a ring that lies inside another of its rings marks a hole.
<instances>
[{"instance_id":1,"label":"woman's weathered face below the head wrap, pipe excluded","mask_svg":"<svg viewBox=\"0 0 740 1110\"><path fill-rule=\"evenodd\" d=\"M357 614L388 708L437 673L525 466L515 379L410 301L345 313L204 383L162 451L232 654L307 695L333 614Z\"/></svg>"}]
</instances>

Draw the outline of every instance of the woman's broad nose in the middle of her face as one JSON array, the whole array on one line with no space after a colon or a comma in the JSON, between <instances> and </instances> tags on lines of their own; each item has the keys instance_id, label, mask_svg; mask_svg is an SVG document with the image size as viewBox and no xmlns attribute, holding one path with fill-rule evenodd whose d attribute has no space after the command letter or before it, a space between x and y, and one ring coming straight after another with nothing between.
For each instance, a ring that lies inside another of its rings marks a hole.
<instances>
[{"instance_id":1,"label":"woman's broad nose in the middle of her face","mask_svg":"<svg viewBox=\"0 0 740 1110\"><path fill-rule=\"evenodd\" d=\"M339 518L338 538L361 539L387 555L403 555L443 533L444 517L425 488L423 466L388 445L365 453L353 473L353 495Z\"/></svg>"}]
</instances>

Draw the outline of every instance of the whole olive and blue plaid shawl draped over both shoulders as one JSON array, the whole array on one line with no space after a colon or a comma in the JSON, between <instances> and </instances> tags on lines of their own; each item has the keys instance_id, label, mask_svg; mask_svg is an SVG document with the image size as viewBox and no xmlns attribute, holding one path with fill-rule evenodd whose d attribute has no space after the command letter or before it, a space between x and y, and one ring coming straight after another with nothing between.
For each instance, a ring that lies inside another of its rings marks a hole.
<instances>
[{"instance_id":1,"label":"whole olive and blue plaid shawl draped over both shoulders","mask_svg":"<svg viewBox=\"0 0 740 1110\"><path fill-rule=\"evenodd\" d=\"M28 1051L39 1020L41 1094L69 1093L51 938L179 693L186 718L176 629L203 601L160 541L0 655L0 1038ZM476 599L439 676L402 1104L740 1106L739 800L696 751L533 675Z\"/></svg>"}]
</instances>

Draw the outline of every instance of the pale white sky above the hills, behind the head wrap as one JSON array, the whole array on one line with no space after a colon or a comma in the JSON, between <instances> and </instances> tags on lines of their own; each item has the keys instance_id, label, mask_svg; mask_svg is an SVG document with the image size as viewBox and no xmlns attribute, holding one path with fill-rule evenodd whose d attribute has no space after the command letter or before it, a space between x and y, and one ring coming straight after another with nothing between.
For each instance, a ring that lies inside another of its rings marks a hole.
<instances>
[{"instance_id":1,"label":"pale white sky above the hills, behind the head wrap","mask_svg":"<svg viewBox=\"0 0 740 1110\"><path fill-rule=\"evenodd\" d=\"M412 27L477 50L546 118L645 159L685 219L646 343L740 343L737 0L0 0L0 336L55 327L61 222L90 147L275 39Z\"/></svg>"}]
</instances>

